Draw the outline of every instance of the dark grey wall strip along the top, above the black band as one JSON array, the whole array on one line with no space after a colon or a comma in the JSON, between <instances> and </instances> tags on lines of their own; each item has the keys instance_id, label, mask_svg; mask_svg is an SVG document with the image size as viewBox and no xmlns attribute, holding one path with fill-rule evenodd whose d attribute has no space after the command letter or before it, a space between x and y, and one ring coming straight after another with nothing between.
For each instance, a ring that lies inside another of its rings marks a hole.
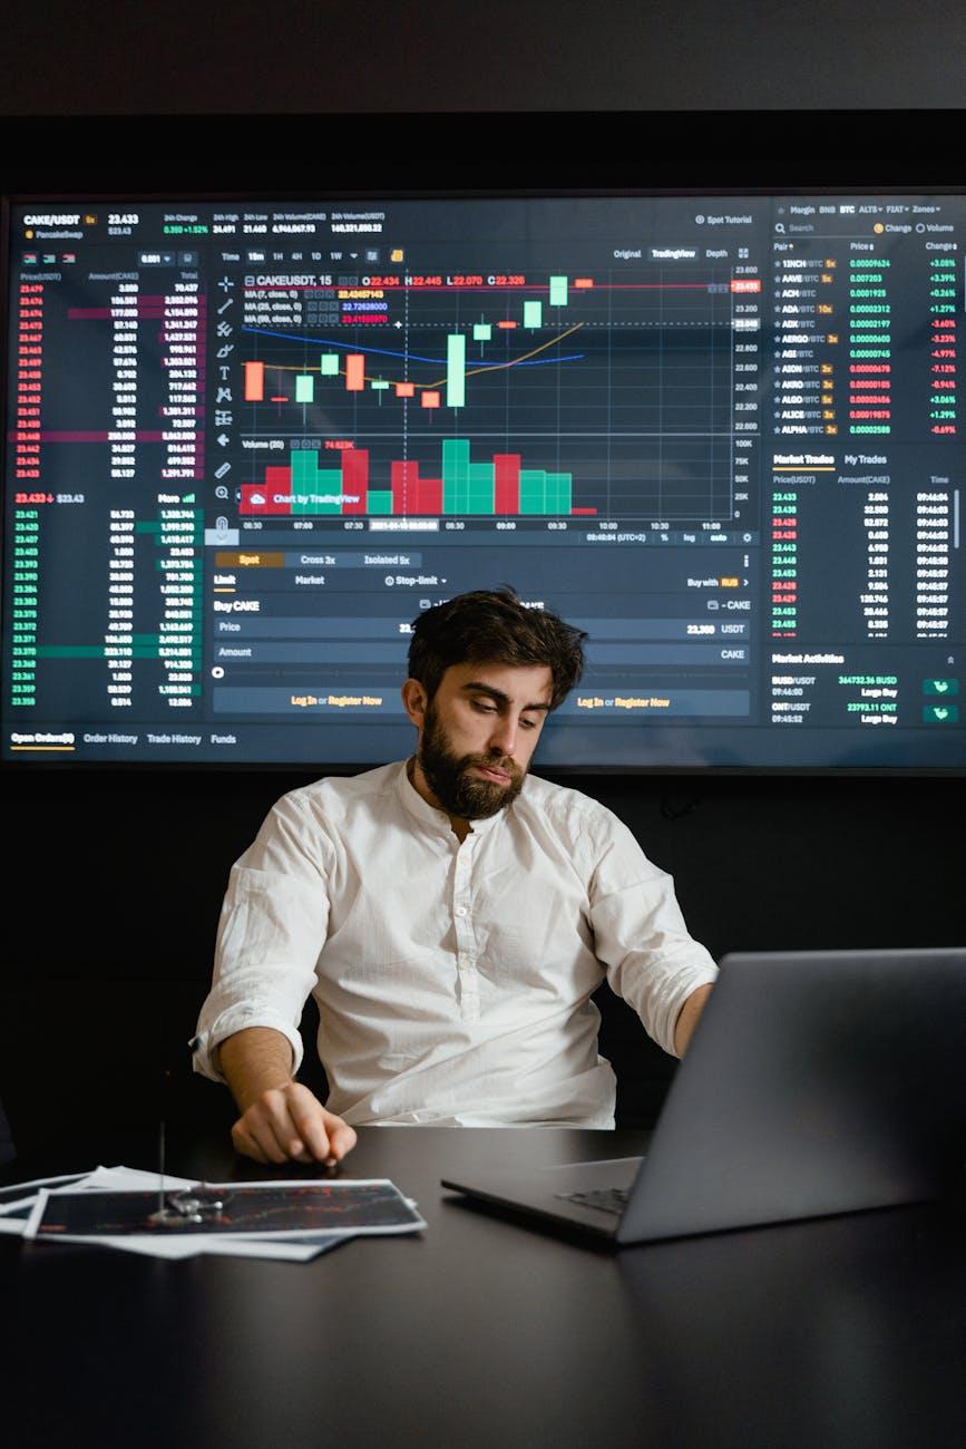
<instances>
[{"instance_id":1,"label":"dark grey wall strip along the top, above the black band","mask_svg":"<svg viewBox=\"0 0 966 1449\"><path fill-rule=\"evenodd\" d=\"M20 0L4 12L0 110L28 116L959 106L966 54L956 0ZM655 136L642 170L672 133ZM346 143L336 133L326 149ZM226 129L216 159L230 146Z\"/></svg>"}]
</instances>

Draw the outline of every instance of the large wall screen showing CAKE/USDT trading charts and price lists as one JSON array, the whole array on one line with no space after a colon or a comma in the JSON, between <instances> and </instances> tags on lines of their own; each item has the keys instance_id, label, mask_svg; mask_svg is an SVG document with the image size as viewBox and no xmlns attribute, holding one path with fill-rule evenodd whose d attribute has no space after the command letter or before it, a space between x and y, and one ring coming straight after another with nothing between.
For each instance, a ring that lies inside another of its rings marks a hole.
<instances>
[{"instance_id":1,"label":"large wall screen showing CAKE/USDT trading charts and price lists","mask_svg":"<svg viewBox=\"0 0 966 1449\"><path fill-rule=\"evenodd\" d=\"M589 636L546 768L966 762L965 197L10 219L6 758L408 753L511 584Z\"/></svg>"}]
</instances>

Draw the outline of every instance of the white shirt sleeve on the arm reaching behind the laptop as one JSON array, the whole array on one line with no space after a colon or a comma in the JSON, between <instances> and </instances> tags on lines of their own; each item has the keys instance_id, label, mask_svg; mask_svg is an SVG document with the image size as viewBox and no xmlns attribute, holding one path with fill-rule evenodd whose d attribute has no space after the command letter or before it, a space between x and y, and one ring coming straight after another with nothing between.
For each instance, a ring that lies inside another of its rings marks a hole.
<instances>
[{"instance_id":1,"label":"white shirt sleeve on the arm reaching behind the laptop","mask_svg":"<svg viewBox=\"0 0 966 1449\"><path fill-rule=\"evenodd\" d=\"M711 955L688 935L673 881L643 853L617 816L588 832L595 864L589 884L595 952L617 995L637 1011L649 1036L675 1052L675 1026L692 991L718 974Z\"/></svg>"}]
</instances>

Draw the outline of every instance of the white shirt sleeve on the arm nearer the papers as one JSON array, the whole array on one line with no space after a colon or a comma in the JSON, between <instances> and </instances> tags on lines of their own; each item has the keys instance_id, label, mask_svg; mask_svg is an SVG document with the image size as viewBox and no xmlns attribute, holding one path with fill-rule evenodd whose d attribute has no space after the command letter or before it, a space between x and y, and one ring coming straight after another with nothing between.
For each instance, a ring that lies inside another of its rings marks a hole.
<instances>
[{"instance_id":1,"label":"white shirt sleeve on the arm nearer the papers","mask_svg":"<svg viewBox=\"0 0 966 1449\"><path fill-rule=\"evenodd\" d=\"M223 1081L217 1048L249 1026L281 1032L301 1065L298 1022L329 924L330 839L284 796L232 867L211 990L191 1042L194 1069Z\"/></svg>"}]
</instances>

